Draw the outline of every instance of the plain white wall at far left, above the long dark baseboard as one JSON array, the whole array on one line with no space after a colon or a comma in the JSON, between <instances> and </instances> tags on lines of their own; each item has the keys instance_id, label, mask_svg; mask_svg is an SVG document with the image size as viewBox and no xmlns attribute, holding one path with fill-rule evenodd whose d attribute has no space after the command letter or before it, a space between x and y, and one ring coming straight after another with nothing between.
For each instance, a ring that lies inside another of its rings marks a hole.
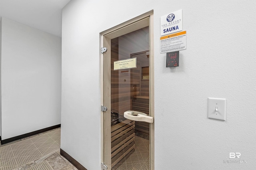
<instances>
[{"instance_id":1,"label":"plain white wall at far left, above the long dark baseboard","mask_svg":"<svg viewBox=\"0 0 256 170\"><path fill-rule=\"evenodd\" d=\"M2 18L2 140L60 124L61 38Z\"/></svg>"}]
</instances>

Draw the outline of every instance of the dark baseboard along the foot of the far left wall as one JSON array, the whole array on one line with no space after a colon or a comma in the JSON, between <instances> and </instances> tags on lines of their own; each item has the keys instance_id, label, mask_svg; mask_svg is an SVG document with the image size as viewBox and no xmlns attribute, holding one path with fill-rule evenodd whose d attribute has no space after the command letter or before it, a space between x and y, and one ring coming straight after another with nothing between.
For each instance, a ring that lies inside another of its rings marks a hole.
<instances>
[{"instance_id":1,"label":"dark baseboard along the foot of the far left wall","mask_svg":"<svg viewBox=\"0 0 256 170\"><path fill-rule=\"evenodd\" d=\"M19 136L15 136L15 137L12 137L12 138L4 139L4 140L1 140L1 144L6 144L6 143L12 142L14 140L19 140L19 139L22 139L22 138L33 136L35 134L46 132L48 130L52 130L52 129L55 129L55 128L60 128L60 125L55 125L55 126L52 126L52 127L43 128L43 129L40 129L40 130L36 130L34 132L29 132L29 133L22 134L22 135L19 135Z\"/></svg>"}]
</instances>

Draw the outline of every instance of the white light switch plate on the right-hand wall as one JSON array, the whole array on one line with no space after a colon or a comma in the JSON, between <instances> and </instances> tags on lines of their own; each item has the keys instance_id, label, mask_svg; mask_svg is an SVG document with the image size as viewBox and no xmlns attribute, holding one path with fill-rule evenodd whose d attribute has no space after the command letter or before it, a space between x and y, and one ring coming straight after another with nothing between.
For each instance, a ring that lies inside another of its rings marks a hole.
<instances>
[{"instance_id":1,"label":"white light switch plate on the right-hand wall","mask_svg":"<svg viewBox=\"0 0 256 170\"><path fill-rule=\"evenodd\" d=\"M226 99L208 98L208 118L226 121Z\"/></svg>"}]
</instances>

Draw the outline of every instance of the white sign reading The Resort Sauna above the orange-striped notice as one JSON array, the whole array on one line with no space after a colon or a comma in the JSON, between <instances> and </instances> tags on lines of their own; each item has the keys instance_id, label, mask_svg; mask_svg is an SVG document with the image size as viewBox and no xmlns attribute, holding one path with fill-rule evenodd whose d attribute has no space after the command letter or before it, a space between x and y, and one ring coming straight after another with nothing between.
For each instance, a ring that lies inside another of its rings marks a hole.
<instances>
[{"instance_id":1,"label":"white sign reading The Resort Sauna above the orange-striped notice","mask_svg":"<svg viewBox=\"0 0 256 170\"><path fill-rule=\"evenodd\" d=\"M161 36L182 31L182 10L161 16Z\"/></svg>"}]
</instances>

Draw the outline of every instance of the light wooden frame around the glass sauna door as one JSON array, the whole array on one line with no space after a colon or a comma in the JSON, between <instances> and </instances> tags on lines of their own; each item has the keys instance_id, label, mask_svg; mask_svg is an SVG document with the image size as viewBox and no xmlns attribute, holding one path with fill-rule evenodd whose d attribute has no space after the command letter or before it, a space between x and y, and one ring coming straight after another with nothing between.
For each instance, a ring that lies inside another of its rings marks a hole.
<instances>
[{"instance_id":1,"label":"light wooden frame around the glass sauna door","mask_svg":"<svg viewBox=\"0 0 256 170\"><path fill-rule=\"evenodd\" d=\"M136 18L133 18L131 20L128 20L127 22L124 22L122 24L119 24L118 26L115 26L113 28L110 28L104 32L100 33L100 49L101 47L110 47L110 44L106 44L106 39L111 40L112 38L116 38L119 36L122 36L124 34L127 34L129 32L133 32L135 30L140 29L141 25L143 25L142 22L145 22L145 18L149 18L149 35L150 35L150 116L154 117L154 24L153 24L153 14L154 11L151 10L145 14L142 14ZM132 27L130 27L132 25ZM122 30L120 30L122 28ZM105 40L105 42L104 42ZM104 44L105 43L105 44ZM109 50L111 50L109 48ZM101 105L104 105L104 68L103 68L103 55L100 53L100 103ZM110 81L106 80L105 81ZM110 87L109 87L110 88ZM109 101L110 102L110 101ZM104 112L100 111L100 117L101 117L101 161L104 161ZM111 137L111 136L110 136ZM110 147L111 148L111 147ZM111 159L111 156L110 156ZM150 124L150 170L154 170L154 123Z\"/></svg>"}]
</instances>

